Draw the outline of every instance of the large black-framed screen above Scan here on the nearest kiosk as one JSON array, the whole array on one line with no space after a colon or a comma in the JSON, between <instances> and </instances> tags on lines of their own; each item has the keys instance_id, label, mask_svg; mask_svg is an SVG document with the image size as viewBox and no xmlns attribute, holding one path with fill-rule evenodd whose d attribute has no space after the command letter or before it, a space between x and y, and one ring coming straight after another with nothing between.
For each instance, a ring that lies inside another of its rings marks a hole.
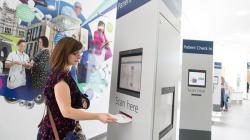
<instances>
[{"instance_id":1,"label":"large black-framed screen above Scan here on the nearest kiosk","mask_svg":"<svg viewBox=\"0 0 250 140\"><path fill-rule=\"evenodd\" d=\"M117 90L140 97L141 73L142 49L120 52Z\"/></svg>"}]
</instances>

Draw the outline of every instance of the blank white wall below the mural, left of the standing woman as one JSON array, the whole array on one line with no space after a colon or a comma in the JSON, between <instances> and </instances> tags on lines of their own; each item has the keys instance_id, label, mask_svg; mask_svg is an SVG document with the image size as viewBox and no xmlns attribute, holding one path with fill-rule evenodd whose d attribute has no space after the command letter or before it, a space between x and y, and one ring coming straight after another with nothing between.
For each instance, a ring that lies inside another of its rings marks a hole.
<instances>
[{"instance_id":1,"label":"blank white wall below the mural, left of the standing woman","mask_svg":"<svg viewBox=\"0 0 250 140\"><path fill-rule=\"evenodd\" d=\"M9 104L0 96L0 139L35 140L44 105L35 105L33 109Z\"/></svg>"}]
</instances>

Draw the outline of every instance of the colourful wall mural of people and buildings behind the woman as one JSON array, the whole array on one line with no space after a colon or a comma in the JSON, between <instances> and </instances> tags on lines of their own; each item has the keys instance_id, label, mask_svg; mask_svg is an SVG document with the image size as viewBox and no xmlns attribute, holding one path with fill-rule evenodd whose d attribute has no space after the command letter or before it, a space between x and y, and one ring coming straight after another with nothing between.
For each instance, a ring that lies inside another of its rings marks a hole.
<instances>
[{"instance_id":1,"label":"colourful wall mural of people and buildings behind the woman","mask_svg":"<svg viewBox=\"0 0 250 140\"><path fill-rule=\"evenodd\" d=\"M72 37L84 49L71 75L82 94L103 102L110 88L116 6L117 0L0 1L0 96L29 109L43 103L50 54L60 39Z\"/></svg>"}]
</instances>

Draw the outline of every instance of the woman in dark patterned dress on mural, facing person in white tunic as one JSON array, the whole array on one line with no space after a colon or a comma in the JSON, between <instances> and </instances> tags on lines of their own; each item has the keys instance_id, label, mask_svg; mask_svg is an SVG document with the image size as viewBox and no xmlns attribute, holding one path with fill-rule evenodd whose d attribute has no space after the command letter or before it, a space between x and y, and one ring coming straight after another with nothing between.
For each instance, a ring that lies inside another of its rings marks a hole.
<instances>
[{"instance_id":1,"label":"woman in dark patterned dress on mural, facing person in white tunic","mask_svg":"<svg viewBox=\"0 0 250 140\"><path fill-rule=\"evenodd\" d=\"M33 59L32 87L37 89L43 89L50 72L50 52L48 49L49 41L45 36L41 36L38 41L38 47L40 49L40 52Z\"/></svg>"}]
</instances>

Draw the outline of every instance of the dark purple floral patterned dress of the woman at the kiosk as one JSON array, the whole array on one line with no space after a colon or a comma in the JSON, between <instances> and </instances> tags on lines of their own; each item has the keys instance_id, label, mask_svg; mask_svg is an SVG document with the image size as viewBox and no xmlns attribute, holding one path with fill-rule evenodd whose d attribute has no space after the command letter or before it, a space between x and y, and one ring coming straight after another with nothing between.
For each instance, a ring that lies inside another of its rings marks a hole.
<instances>
[{"instance_id":1,"label":"dark purple floral patterned dress of the woman at the kiosk","mask_svg":"<svg viewBox=\"0 0 250 140\"><path fill-rule=\"evenodd\" d=\"M54 93L54 86L64 80L70 87L70 95L71 95L71 106L73 108L83 108L82 106L82 99L87 101L89 106L89 100L86 96L84 96L79 88L77 87L76 82L71 77L69 72L52 72L45 85L44 95L45 95L45 103L47 107L49 107L53 120L56 125L56 129L58 131L58 135L60 139L63 139L67 132L73 131L77 122L72 119L64 118L61 114L58 104L56 102L55 93ZM42 119L41 123L39 124L39 131L38 131L38 140L54 140L54 133L52 131L51 123L49 121L48 111L44 118Z\"/></svg>"}]
</instances>

